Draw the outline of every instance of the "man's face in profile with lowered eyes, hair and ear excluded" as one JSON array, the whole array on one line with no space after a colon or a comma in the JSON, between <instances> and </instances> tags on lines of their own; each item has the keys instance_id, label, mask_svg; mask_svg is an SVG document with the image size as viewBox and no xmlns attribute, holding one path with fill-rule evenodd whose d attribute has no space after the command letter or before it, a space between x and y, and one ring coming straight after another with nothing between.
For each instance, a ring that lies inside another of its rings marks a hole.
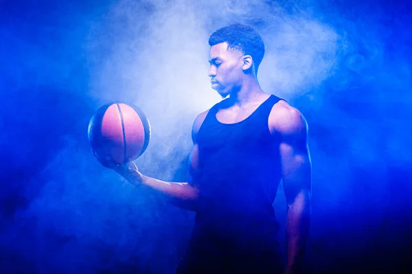
<instances>
[{"instance_id":1,"label":"man's face in profile with lowered eyes, hair and ear excluded","mask_svg":"<svg viewBox=\"0 0 412 274\"><path fill-rule=\"evenodd\" d=\"M240 86L243 58L240 51L227 49L227 42L214 45L209 51L211 88L223 98Z\"/></svg>"}]
</instances>

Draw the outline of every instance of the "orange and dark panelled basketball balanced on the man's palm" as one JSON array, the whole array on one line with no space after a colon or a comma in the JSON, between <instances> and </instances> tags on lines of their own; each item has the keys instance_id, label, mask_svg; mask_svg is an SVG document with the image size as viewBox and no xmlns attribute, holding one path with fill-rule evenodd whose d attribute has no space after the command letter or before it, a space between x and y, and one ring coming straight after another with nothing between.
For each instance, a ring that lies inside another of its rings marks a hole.
<instances>
[{"instance_id":1,"label":"orange and dark panelled basketball balanced on the man's palm","mask_svg":"<svg viewBox=\"0 0 412 274\"><path fill-rule=\"evenodd\" d=\"M144 112L126 103L103 105L91 117L88 127L93 153L116 164L139 158L149 145L150 133Z\"/></svg>"}]
</instances>

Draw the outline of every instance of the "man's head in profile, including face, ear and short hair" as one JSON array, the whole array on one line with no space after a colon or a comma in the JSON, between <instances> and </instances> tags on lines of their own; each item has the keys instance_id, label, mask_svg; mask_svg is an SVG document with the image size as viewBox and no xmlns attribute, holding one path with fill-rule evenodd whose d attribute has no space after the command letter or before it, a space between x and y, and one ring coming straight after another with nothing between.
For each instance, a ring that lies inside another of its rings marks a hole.
<instances>
[{"instance_id":1,"label":"man's head in profile, including face, ear and short hair","mask_svg":"<svg viewBox=\"0 0 412 274\"><path fill-rule=\"evenodd\" d=\"M240 88L244 77L256 77L264 42L255 29L240 24L222 27L211 34L209 45L209 77L222 97Z\"/></svg>"}]
</instances>

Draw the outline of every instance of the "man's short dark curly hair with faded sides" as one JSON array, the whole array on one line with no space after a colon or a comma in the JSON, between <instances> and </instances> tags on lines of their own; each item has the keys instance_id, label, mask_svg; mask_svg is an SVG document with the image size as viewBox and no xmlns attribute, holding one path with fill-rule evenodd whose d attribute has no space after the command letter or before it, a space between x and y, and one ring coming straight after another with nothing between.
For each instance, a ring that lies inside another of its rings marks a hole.
<instances>
[{"instance_id":1,"label":"man's short dark curly hair with faded sides","mask_svg":"<svg viewBox=\"0 0 412 274\"><path fill-rule=\"evenodd\" d=\"M258 32L247 25L234 24L222 27L209 37L209 46L227 42L228 49L237 49L245 55L251 55L258 73L264 56L264 42Z\"/></svg>"}]
</instances>

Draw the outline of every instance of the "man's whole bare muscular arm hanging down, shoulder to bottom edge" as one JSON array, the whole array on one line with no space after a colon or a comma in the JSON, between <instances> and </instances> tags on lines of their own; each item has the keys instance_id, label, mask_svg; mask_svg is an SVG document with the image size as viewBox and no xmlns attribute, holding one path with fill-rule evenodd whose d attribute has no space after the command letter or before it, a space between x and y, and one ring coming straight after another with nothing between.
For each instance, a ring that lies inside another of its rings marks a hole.
<instances>
[{"instance_id":1,"label":"man's whole bare muscular arm hanging down, shoulder to bottom edge","mask_svg":"<svg viewBox=\"0 0 412 274\"><path fill-rule=\"evenodd\" d=\"M286 273L299 273L310 226L312 164L304 117L289 105L277 112L282 181L288 204L286 219Z\"/></svg>"}]
</instances>

